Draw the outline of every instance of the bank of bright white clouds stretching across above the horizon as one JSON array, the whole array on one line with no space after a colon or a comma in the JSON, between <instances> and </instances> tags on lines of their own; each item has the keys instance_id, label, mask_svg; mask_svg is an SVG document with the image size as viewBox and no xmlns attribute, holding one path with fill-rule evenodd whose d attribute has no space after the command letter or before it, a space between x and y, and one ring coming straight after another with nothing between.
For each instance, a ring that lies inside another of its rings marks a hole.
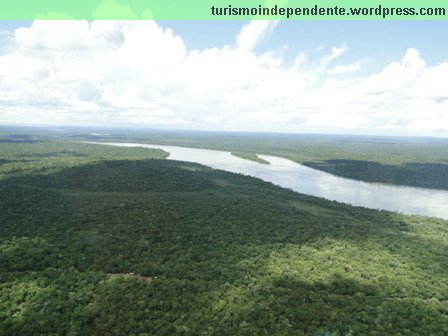
<instances>
[{"instance_id":1,"label":"bank of bright white clouds stretching across above the horizon","mask_svg":"<svg viewBox=\"0 0 448 336\"><path fill-rule=\"evenodd\" d=\"M0 123L448 135L448 63L409 48L350 77L345 44L292 62L257 53L277 24L188 50L153 21L36 21L0 56Z\"/></svg>"}]
</instances>

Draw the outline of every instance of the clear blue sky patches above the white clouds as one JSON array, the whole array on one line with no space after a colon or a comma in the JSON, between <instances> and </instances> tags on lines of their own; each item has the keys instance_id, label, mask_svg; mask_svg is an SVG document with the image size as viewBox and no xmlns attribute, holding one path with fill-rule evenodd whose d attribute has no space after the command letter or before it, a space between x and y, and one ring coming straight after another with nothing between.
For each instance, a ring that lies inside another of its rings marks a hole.
<instances>
[{"instance_id":1,"label":"clear blue sky patches above the white clouds","mask_svg":"<svg viewBox=\"0 0 448 336\"><path fill-rule=\"evenodd\" d=\"M242 21L160 21L182 35L188 47L204 49L232 45ZM288 56L302 49L346 43L346 61L369 60L372 69L399 59L408 48L421 50L429 64L447 60L448 21L282 21L258 51L289 45Z\"/></svg>"}]
</instances>

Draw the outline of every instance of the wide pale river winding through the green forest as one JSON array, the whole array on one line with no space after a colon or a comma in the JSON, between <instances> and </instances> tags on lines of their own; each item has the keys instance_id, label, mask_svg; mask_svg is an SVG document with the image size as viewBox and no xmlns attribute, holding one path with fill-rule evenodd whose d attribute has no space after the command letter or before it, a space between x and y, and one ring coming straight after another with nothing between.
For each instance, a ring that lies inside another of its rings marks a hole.
<instances>
[{"instance_id":1,"label":"wide pale river winding through the green forest","mask_svg":"<svg viewBox=\"0 0 448 336\"><path fill-rule=\"evenodd\" d=\"M448 219L448 191L367 183L338 177L288 159L259 155L271 164L241 159L230 152L136 143L99 143L120 147L160 148L169 159L200 163L215 169L261 178L297 192L372 209Z\"/></svg>"}]
</instances>

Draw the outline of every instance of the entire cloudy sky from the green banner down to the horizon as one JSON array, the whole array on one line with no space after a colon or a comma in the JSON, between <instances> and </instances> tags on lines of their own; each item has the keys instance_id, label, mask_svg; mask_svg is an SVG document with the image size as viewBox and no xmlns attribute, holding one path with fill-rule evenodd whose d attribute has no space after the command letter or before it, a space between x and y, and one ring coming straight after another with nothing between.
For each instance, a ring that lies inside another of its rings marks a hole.
<instances>
[{"instance_id":1,"label":"entire cloudy sky from the green banner down to the horizon","mask_svg":"<svg viewBox=\"0 0 448 336\"><path fill-rule=\"evenodd\" d=\"M0 124L448 136L447 21L1 21Z\"/></svg>"}]
</instances>

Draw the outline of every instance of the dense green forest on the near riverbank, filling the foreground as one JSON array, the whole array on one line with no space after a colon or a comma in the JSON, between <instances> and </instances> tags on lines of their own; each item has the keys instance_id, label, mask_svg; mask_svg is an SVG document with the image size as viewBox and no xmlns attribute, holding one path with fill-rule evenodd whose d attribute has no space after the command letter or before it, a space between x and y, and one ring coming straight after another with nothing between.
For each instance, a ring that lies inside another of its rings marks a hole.
<instances>
[{"instance_id":1,"label":"dense green forest on the near riverbank, filling the foreground","mask_svg":"<svg viewBox=\"0 0 448 336\"><path fill-rule=\"evenodd\" d=\"M0 143L1 335L448 334L447 221L45 136Z\"/></svg>"}]
</instances>

